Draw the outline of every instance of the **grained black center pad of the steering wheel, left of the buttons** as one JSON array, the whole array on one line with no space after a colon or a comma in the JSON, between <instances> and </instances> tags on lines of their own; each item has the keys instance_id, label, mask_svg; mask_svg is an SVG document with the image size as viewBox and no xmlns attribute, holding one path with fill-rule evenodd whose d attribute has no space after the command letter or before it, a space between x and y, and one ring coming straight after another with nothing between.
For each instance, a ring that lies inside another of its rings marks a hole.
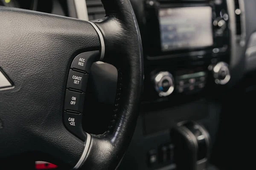
<instances>
[{"instance_id":1,"label":"grained black center pad of the steering wheel, left of the buttons","mask_svg":"<svg viewBox=\"0 0 256 170\"><path fill-rule=\"evenodd\" d=\"M0 91L0 160L37 152L77 163L84 143L62 122L68 72L77 54L100 48L90 23L0 7L0 67L15 84Z\"/></svg>"}]
</instances>

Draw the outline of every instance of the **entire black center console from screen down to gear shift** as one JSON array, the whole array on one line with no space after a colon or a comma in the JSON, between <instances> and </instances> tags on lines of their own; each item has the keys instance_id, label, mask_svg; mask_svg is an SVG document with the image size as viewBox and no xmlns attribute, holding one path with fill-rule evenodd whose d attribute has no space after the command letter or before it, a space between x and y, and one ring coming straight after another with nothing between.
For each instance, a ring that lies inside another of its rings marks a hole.
<instances>
[{"instance_id":1,"label":"entire black center console from screen down to gear shift","mask_svg":"<svg viewBox=\"0 0 256 170\"><path fill-rule=\"evenodd\" d=\"M231 78L226 0L143 2L143 99L119 169L208 170Z\"/></svg>"}]
</instances>

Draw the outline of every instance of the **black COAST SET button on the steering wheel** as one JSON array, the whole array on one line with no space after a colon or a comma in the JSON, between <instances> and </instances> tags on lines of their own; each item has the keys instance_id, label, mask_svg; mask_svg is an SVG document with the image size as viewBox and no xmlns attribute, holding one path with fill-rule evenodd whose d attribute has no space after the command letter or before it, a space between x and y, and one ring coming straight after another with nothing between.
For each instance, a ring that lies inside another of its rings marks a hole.
<instances>
[{"instance_id":1,"label":"black COAST SET button on the steering wheel","mask_svg":"<svg viewBox=\"0 0 256 170\"><path fill-rule=\"evenodd\" d=\"M82 74L82 73L70 70L68 80L67 80L67 88L74 88L74 89L85 92L88 78L89 78L89 74Z\"/></svg>"}]
</instances>

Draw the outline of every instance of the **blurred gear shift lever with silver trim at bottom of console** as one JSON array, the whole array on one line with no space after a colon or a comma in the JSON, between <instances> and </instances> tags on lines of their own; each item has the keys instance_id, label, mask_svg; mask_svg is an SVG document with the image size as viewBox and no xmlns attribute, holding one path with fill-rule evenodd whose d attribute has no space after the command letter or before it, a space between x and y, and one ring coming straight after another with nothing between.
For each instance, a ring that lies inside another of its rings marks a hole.
<instances>
[{"instance_id":1,"label":"blurred gear shift lever with silver trim at bottom of console","mask_svg":"<svg viewBox=\"0 0 256 170\"><path fill-rule=\"evenodd\" d=\"M196 122L184 121L171 130L177 170L205 170L209 159L209 133Z\"/></svg>"}]
</instances>

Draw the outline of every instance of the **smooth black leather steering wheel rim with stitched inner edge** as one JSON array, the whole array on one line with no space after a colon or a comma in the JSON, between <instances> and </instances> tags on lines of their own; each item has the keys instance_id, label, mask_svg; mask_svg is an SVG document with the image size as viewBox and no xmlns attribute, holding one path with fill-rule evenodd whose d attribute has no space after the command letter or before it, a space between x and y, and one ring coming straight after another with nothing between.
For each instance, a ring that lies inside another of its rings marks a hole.
<instances>
[{"instance_id":1,"label":"smooth black leather steering wheel rim with stitched inner edge","mask_svg":"<svg viewBox=\"0 0 256 170\"><path fill-rule=\"evenodd\" d=\"M106 15L95 21L105 40L105 62L118 70L112 126L102 136L92 136L82 169L114 170L134 133L143 88L143 52L140 32L129 0L102 0ZM121 88L121 89L119 89ZM120 98L120 99L119 99Z\"/></svg>"}]
</instances>

